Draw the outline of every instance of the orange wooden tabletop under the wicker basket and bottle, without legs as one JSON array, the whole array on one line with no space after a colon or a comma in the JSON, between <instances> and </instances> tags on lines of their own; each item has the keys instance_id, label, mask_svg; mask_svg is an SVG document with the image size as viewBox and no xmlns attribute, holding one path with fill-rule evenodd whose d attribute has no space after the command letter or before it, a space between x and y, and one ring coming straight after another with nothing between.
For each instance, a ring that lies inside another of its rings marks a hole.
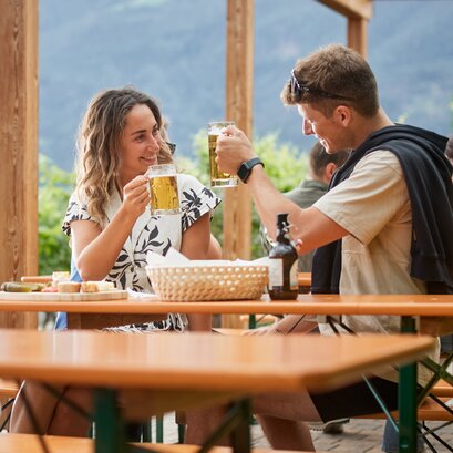
<instances>
[{"instance_id":1,"label":"orange wooden tabletop under the wicker basket and bottle, without legs","mask_svg":"<svg viewBox=\"0 0 453 453\"><path fill-rule=\"evenodd\" d=\"M272 315L395 315L453 317L452 295L299 295L295 301L226 300L207 302L168 302L156 296L138 300L110 301L24 301L1 299L0 311L66 311L72 319L90 313L156 315L185 313L272 313ZM83 325L82 321L74 321Z\"/></svg>"}]
</instances>

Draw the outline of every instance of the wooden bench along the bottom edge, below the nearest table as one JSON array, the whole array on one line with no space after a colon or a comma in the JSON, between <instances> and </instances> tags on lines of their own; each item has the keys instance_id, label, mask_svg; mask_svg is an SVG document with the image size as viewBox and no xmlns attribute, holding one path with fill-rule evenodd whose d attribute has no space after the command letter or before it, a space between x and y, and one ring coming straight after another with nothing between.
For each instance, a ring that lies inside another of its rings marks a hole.
<instances>
[{"instance_id":1,"label":"wooden bench along the bottom edge, below the nearest table","mask_svg":"<svg viewBox=\"0 0 453 453\"><path fill-rule=\"evenodd\" d=\"M47 435L43 437L52 453L92 453L94 451L94 441L91 439L63 437ZM136 444L145 450L157 453L196 453L199 450L197 445L181 444ZM39 437L32 434L3 434L0 435L0 453L41 453ZM212 453L231 453L233 450L226 446L216 446L209 450ZM253 449L251 453L267 453L270 450ZM284 453L272 450L272 453ZM289 453L289 452L288 452ZM299 452L303 453L303 452ZM307 453L307 452L306 452Z\"/></svg>"}]
</instances>

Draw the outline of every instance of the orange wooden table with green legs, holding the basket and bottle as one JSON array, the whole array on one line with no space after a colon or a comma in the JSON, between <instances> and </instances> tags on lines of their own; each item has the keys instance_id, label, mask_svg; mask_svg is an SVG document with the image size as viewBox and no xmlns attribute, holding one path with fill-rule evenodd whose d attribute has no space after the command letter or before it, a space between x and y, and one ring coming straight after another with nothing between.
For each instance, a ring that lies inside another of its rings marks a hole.
<instances>
[{"instance_id":1,"label":"orange wooden table with green legs, holding the basket and bottle","mask_svg":"<svg viewBox=\"0 0 453 453\"><path fill-rule=\"evenodd\" d=\"M453 330L453 296L452 295L299 295L297 301L213 301L213 302L164 302L156 297L143 300L117 300L100 302L45 302L0 300L0 310L9 311L66 311L71 328L94 328L105 325L119 325L125 321L126 315L150 315L166 312L185 313L272 313L272 315L394 315L402 317L402 331L416 331L416 317L428 326L425 332L437 336L437 325L450 321L446 331ZM109 313L109 319L106 319ZM113 315L112 315L113 313ZM116 316L121 317L115 318ZM113 318L112 318L113 317ZM449 318L450 317L450 318ZM136 319L136 318L134 318ZM140 317L138 317L140 320ZM143 319L142 319L143 320ZM422 326L423 327L423 326ZM401 368L400 387L404 401L413 401L416 388L416 368ZM406 403L404 403L406 404ZM401 412L400 434L410 452L414 449L416 433L416 406L411 403L409 411ZM405 418L408 416L408 420ZM408 441L409 439L409 441Z\"/></svg>"}]
</instances>

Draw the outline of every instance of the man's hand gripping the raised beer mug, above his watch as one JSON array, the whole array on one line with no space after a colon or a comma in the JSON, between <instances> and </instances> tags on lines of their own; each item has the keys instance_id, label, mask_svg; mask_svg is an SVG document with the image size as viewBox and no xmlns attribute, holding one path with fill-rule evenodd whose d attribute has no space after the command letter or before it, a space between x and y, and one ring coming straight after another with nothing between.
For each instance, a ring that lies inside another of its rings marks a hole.
<instances>
[{"instance_id":1,"label":"man's hand gripping the raised beer mug, above his watch","mask_svg":"<svg viewBox=\"0 0 453 453\"><path fill-rule=\"evenodd\" d=\"M236 175L243 162L256 157L246 134L235 126L228 126L217 137L216 163L222 172Z\"/></svg>"}]
</instances>

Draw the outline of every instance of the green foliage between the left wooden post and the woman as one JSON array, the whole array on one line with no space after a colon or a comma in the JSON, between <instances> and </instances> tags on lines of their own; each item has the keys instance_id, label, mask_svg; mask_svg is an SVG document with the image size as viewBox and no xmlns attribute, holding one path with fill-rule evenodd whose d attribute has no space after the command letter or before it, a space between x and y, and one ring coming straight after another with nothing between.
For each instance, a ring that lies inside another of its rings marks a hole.
<instances>
[{"instance_id":1,"label":"green foliage between the left wooden post and the woman","mask_svg":"<svg viewBox=\"0 0 453 453\"><path fill-rule=\"evenodd\" d=\"M68 270L71 250L61 224L72 192L74 175L59 168L49 157L39 156L39 272Z\"/></svg>"}]
</instances>

